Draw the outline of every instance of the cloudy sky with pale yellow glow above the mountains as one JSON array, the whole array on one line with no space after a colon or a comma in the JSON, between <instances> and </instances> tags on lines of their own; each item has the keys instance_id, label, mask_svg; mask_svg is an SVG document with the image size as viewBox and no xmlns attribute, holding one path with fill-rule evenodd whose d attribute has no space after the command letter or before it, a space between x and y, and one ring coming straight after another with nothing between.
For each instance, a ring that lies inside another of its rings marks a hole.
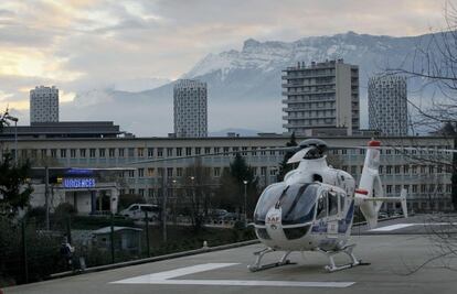
<instances>
[{"instance_id":1,"label":"cloudy sky with pale yellow glow above the mountains","mask_svg":"<svg viewBox=\"0 0 457 294\"><path fill-rule=\"evenodd\" d=\"M0 110L8 106L24 124L36 85L57 86L65 102L123 80L176 79L249 37L428 33L445 26L445 8L444 0L2 0Z\"/></svg>"}]
</instances>

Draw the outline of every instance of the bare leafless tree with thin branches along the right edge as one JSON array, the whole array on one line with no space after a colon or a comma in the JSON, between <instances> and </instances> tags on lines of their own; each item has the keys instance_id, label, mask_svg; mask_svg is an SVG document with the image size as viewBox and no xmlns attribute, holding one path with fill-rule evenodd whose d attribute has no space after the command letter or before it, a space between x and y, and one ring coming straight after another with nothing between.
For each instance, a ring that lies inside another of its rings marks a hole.
<instances>
[{"instance_id":1,"label":"bare leafless tree with thin branches along the right edge","mask_svg":"<svg viewBox=\"0 0 457 294\"><path fill-rule=\"evenodd\" d=\"M447 138L449 145L457 149L457 9L449 1L445 6L445 20L446 28L425 35L421 44L416 45L413 56L405 58L410 58L411 66L406 66L405 62L398 67L385 68L385 74L401 74L411 81L417 80L421 85L418 92L426 95L425 105L408 99L408 106L415 113L412 120L413 132L416 133L416 128L426 126L428 130ZM433 87L432 91L427 91L429 87ZM453 153L451 157L444 155L432 162L444 165L451 172L451 202L457 210L457 154ZM456 255L457 237L451 233L456 229L455 217L438 215L431 218L437 222L447 222L448 226L433 230L431 236L435 237L437 254L412 272L437 259Z\"/></svg>"}]
</instances>

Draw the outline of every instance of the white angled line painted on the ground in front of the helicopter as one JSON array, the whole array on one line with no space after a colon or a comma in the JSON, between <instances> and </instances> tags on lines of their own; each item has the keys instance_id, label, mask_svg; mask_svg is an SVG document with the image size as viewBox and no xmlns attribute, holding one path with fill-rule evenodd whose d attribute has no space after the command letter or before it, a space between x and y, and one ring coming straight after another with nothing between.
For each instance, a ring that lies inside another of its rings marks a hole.
<instances>
[{"instance_id":1,"label":"white angled line painted on the ground in front of the helicopter","mask_svg":"<svg viewBox=\"0 0 457 294\"><path fill-rule=\"evenodd\" d=\"M125 279L111 284L169 284L169 285L216 285L216 286L294 286L294 287L348 287L354 282L289 282L289 281L252 281L252 280L170 280L173 277L217 270L240 263L205 263L177 270L145 274Z\"/></svg>"}]
</instances>

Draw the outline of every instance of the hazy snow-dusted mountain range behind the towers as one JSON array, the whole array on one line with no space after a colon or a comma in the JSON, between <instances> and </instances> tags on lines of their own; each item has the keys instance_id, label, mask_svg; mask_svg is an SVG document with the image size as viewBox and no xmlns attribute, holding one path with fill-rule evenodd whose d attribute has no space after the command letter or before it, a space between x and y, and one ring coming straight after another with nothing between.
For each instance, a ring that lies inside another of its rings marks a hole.
<instances>
[{"instance_id":1,"label":"hazy snow-dusted mountain range behind the towers","mask_svg":"<svg viewBox=\"0 0 457 294\"><path fill-rule=\"evenodd\" d=\"M281 70L297 62L310 64L343 58L346 63L359 65L361 123L366 128L368 78L386 67L415 66L412 63L414 51L429 37L348 32L295 42L249 39L241 51L209 54L182 78L208 83L210 132L227 128L283 132ZM115 120L124 130L138 135L166 135L173 131L172 87L173 81L135 92L127 91L131 90L128 87L81 92L72 102L62 105L61 117L65 120ZM415 87L408 84L408 88Z\"/></svg>"}]
</instances>

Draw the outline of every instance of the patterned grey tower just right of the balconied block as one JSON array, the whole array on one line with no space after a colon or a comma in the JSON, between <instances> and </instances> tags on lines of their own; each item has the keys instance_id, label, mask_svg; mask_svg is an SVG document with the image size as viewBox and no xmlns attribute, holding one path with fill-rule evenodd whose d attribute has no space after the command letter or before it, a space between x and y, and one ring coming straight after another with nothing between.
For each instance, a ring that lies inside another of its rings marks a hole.
<instances>
[{"instance_id":1,"label":"patterned grey tower just right of the balconied block","mask_svg":"<svg viewBox=\"0 0 457 294\"><path fill-rule=\"evenodd\" d=\"M407 89L402 76L369 79L369 124L384 135L407 135Z\"/></svg>"}]
</instances>

